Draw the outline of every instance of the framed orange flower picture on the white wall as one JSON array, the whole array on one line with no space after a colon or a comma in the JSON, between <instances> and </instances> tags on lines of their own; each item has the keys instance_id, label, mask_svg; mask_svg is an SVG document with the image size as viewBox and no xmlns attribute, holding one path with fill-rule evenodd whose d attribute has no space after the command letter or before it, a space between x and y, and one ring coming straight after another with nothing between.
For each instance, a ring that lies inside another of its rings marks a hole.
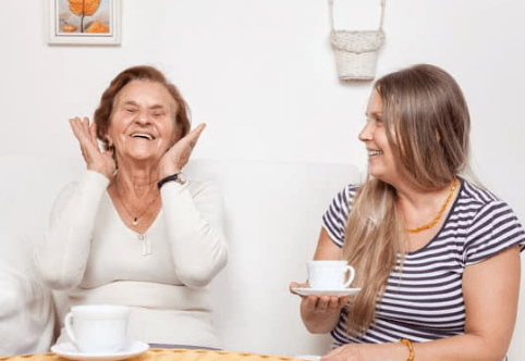
<instances>
[{"instance_id":1,"label":"framed orange flower picture on the white wall","mask_svg":"<svg viewBox=\"0 0 525 361\"><path fill-rule=\"evenodd\" d=\"M45 0L48 43L120 45L121 0Z\"/></svg>"}]
</instances>

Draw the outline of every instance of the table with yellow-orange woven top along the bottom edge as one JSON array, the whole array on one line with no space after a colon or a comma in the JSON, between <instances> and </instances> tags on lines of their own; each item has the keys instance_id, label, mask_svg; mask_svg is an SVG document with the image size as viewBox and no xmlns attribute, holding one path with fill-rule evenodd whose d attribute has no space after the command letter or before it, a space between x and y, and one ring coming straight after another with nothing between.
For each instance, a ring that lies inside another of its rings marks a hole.
<instances>
[{"instance_id":1,"label":"table with yellow-orange woven top along the bottom edge","mask_svg":"<svg viewBox=\"0 0 525 361\"><path fill-rule=\"evenodd\" d=\"M56 353L21 354L0 357L0 361L64 361ZM129 361L293 361L290 357L249 352L229 352L205 349L162 349L150 348L146 353L127 359Z\"/></svg>"}]
</instances>

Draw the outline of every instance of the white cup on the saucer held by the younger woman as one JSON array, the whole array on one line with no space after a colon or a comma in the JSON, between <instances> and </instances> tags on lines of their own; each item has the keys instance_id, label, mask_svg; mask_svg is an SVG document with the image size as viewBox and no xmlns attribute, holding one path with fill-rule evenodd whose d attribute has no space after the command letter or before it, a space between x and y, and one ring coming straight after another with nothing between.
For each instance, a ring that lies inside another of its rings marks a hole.
<instances>
[{"instance_id":1,"label":"white cup on the saucer held by the younger woman","mask_svg":"<svg viewBox=\"0 0 525 361\"><path fill-rule=\"evenodd\" d=\"M346 261L308 261L306 265L309 287L315 289L349 288L355 277L354 267Z\"/></svg>"}]
</instances>

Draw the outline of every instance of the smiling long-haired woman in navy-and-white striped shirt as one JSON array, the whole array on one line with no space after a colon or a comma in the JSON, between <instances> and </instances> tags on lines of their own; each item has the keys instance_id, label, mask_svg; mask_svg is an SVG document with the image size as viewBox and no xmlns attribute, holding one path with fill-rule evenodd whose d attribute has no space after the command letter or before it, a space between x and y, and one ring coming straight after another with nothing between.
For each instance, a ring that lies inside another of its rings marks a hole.
<instances>
[{"instance_id":1,"label":"smiling long-haired woman in navy-and-white striped shirt","mask_svg":"<svg viewBox=\"0 0 525 361\"><path fill-rule=\"evenodd\" d=\"M386 75L366 117L367 179L333 199L314 256L347 260L362 290L301 302L307 329L334 339L323 360L505 359L525 229L460 175L471 123L459 85L426 64Z\"/></svg>"}]
</instances>

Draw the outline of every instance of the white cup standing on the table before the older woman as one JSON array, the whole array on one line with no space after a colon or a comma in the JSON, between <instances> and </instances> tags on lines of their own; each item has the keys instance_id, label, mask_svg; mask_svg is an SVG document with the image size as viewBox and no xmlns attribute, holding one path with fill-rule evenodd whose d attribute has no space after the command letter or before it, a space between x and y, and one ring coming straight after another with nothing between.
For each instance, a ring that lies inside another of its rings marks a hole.
<instances>
[{"instance_id":1,"label":"white cup standing on the table before the older woman","mask_svg":"<svg viewBox=\"0 0 525 361\"><path fill-rule=\"evenodd\" d=\"M130 308L126 306L74 306L65 315L64 327L81 352L119 352L126 346L129 316Z\"/></svg>"}]
</instances>

